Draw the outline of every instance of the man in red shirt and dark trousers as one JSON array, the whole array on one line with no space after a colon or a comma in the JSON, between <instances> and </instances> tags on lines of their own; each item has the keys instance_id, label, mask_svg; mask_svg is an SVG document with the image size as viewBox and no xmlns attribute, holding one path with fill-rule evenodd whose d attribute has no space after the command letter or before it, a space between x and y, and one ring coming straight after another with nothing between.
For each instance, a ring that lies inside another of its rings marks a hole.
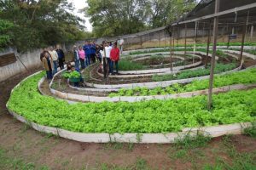
<instances>
[{"instance_id":1,"label":"man in red shirt and dark trousers","mask_svg":"<svg viewBox=\"0 0 256 170\"><path fill-rule=\"evenodd\" d=\"M119 48L117 48L117 42L113 43L113 48L110 52L110 73L113 74L113 63L115 64L116 73L119 73Z\"/></svg>"}]
</instances>

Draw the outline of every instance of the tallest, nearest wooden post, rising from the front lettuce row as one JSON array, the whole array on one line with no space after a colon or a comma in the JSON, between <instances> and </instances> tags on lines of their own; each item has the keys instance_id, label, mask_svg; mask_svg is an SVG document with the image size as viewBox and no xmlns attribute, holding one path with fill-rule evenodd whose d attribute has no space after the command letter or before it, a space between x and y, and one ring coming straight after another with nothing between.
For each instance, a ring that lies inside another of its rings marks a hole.
<instances>
[{"instance_id":1,"label":"tallest, nearest wooden post, rising from the front lettuce row","mask_svg":"<svg viewBox=\"0 0 256 170\"><path fill-rule=\"evenodd\" d=\"M219 11L219 0L215 1L215 14ZM214 77L214 67L215 67L215 55L218 37L218 16L214 17L213 23L213 44L212 44L212 65L209 81L209 94L208 94L208 110L212 108L212 88L213 88L213 77Z\"/></svg>"}]
</instances>

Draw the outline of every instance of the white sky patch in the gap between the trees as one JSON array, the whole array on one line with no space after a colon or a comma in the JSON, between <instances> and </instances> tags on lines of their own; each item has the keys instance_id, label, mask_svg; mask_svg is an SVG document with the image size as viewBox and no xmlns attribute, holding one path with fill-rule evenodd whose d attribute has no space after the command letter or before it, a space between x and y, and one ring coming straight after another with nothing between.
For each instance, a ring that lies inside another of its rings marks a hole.
<instances>
[{"instance_id":1,"label":"white sky patch in the gap between the trees","mask_svg":"<svg viewBox=\"0 0 256 170\"><path fill-rule=\"evenodd\" d=\"M68 0L68 2L73 3L74 5L75 10L73 11L73 13L85 20L84 26L86 26L87 31L92 31L92 26L90 24L89 18L84 17L84 14L79 13L79 9L88 6L86 1L85 0Z\"/></svg>"}]
</instances>

